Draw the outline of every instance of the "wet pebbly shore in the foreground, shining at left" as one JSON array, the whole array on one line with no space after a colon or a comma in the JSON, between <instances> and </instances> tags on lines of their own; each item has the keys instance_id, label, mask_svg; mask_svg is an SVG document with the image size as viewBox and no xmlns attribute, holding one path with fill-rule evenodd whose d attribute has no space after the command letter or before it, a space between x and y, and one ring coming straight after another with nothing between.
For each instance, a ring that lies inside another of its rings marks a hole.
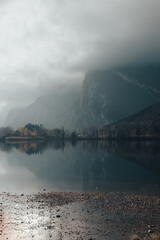
<instances>
[{"instance_id":1,"label":"wet pebbly shore in the foreground, shining at left","mask_svg":"<svg viewBox=\"0 0 160 240\"><path fill-rule=\"evenodd\" d=\"M40 232L42 239L55 240L129 240L134 235L148 240L160 235L158 193L2 193L0 198L2 239L38 240Z\"/></svg>"}]
</instances>

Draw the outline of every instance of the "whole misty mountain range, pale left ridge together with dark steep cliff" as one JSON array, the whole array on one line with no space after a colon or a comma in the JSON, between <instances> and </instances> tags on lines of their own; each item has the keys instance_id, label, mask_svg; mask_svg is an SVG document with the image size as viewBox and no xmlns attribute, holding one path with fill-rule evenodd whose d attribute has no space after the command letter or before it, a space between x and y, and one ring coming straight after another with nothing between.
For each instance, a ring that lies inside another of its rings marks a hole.
<instances>
[{"instance_id":1,"label":"whole misty mountain range, pale left ridge together with dark steep cliff","mask_svg":"<svg viewBox=\"0 0 160 240\"><path fill-rule=\"evenodd\" d=\"M57 90L23 110L9 113L5 125L28 122L66 129L102 127L160 101L160 65L87 73L82 89Z\"/></svg>"}]
</instances>

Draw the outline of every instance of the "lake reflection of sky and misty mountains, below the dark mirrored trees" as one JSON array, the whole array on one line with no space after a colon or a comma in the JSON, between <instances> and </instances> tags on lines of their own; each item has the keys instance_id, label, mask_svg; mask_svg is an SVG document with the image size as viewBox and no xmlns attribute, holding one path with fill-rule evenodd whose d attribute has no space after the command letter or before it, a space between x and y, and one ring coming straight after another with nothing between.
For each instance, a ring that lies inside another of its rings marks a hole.
<instances>
[{"instance_id":1,"label":"lake reflection of sky and misty mountains, below the dark mirrored trees","mask_svg":"<svg viewBox=\"0 0 160 240\"><path fill-rule=\"evenodd\" d=\"M19 149L0 152L0 191L37 192L106 190L117 183L159 182L159 176L107 151L80 144L28 155ZM105 186L107 185L107 187Z\"/></svg>"}]
</instances>

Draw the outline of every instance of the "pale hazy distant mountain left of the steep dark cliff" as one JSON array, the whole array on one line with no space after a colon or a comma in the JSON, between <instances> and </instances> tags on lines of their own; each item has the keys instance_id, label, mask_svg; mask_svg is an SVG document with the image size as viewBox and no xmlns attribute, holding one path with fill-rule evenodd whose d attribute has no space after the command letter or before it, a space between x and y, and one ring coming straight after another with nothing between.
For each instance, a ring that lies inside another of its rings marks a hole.
<instances>
[{"instance_id":1,"label":"pale hazy distant mountain left of the steep dark cliff","mask_svg":"<svg viewBox=\"0 0 160 240\"><path fill-rule=\"evenodd\" d=\"M6 126L18 128L27 123L43 124L47 128L70 128L79 101L77 90L54 91L39 97L24 109L13 109L5 121Z\"/></svg>"}]
</instances>

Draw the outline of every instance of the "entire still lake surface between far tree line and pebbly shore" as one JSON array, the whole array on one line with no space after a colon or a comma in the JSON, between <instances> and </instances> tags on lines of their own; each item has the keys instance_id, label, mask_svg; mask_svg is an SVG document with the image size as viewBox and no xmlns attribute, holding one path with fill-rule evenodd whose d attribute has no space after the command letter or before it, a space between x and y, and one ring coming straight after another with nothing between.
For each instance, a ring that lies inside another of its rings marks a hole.
<instances>
[{"instance_id":1,"label":"entire still lake surface between far tree line and pebbly shore","mask_svg":"<svg viewBox=\"0 0 160 240\"><path fill-rule=\"evenodd\" d=\"M0 191L158 191L160 142L0 144Z\"/></svg>"}]
</instances>

